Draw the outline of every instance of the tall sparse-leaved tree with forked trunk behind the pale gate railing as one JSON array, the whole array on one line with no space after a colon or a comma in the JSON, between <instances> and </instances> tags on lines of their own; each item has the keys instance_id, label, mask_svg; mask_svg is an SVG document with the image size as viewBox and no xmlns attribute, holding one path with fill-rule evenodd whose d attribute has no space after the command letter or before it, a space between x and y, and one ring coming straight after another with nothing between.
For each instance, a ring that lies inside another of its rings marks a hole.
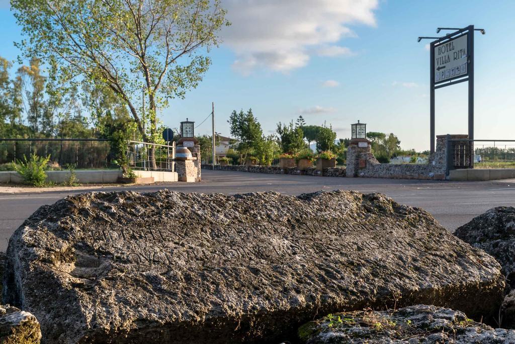
<instances>
[{"instance_id":1,"label":"tall sparse-leaved tree with forked trunk behind the pale gate railing","mask_svg":"<svg viewBox=\"0 0 515 344\"><path fill-rule=\"evenodd\" d=\"M201 81L210 59L196 52L216 46L227 23L219 0L11 0L11 8L29 38L22 51L63 82L81 74L105 83L146 142L159 136L158 109Z\"/></svg>"}]
</instances>

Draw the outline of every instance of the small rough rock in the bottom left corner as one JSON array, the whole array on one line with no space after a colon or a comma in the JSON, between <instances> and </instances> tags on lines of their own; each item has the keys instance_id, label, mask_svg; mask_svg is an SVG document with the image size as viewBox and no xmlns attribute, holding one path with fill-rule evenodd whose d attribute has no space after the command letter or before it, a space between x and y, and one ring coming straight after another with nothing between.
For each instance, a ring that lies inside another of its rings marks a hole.
<instances>
[{"instance_id":1,"label":"small rough rock in the bottom left corner","mask_svg":"<svg viewBox=\"0 0 515 344\"><path fill-rule=\"evenodd\" d=\"M16 307L0 305L0 343L38 344L41 340L35 316Z\"/></svg>"}]
</instances>

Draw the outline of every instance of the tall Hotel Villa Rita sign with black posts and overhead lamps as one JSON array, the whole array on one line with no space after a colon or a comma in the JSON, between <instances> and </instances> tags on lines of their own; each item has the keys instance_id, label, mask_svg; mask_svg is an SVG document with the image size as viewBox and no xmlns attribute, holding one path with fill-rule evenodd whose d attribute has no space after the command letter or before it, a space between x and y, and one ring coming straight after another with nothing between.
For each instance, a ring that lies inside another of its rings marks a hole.
<instances>
[{"instance_id":1,"label":"tall Hotel Villa Rita sign with black posts and overhead lamps","mask_svg":"<svg viewBox=\"0 0 515 344\"><path fill-rule=\"evenodd\" d=\"M484 34L483 29L480 31ZM422 38L427 37L421 37L419 41ZM430 51L430 133L431 153L434 153L435 90L442 87L469 82L468 129L469 140L474 140L474 25L469 25L431 42Z\"/></svg>"}]
</instances>

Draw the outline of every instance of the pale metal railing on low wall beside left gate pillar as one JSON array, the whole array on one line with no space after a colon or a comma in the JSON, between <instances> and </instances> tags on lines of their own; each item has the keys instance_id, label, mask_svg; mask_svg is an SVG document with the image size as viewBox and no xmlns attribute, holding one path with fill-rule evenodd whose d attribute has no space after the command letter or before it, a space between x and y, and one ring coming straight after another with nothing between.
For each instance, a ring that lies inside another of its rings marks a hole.
<instances>
[{"instance_id":1,"label":"pale metal railing on low wall beside left gate pillar","mask_svg":"<svg viewBox=\"0 0 515 344\"><path fill-rule=\"evenodd\" d=\"M131 169L175 172L175 142L167 146L129 141L126 154Z\"/></svg>"}]
</instances>

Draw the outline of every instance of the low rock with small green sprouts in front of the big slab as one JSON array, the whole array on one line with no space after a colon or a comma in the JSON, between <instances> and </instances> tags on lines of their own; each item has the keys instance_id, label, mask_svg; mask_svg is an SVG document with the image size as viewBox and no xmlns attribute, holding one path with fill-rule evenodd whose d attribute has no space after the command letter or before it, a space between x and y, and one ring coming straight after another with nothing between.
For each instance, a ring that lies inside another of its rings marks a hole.
<instances>
[{"instance_id":1,"label":"low rock with small green sprouts in front of the big slab","mask_svg":"<svg viewBox=\"0 0 515 344\"><path fill-rule=\"evenodd\" d=\"M462 312L426 305L331 314L301 326L298 334L307 344L515 343L513 330L494 330Z\"/></svg>"}]
</instances>

